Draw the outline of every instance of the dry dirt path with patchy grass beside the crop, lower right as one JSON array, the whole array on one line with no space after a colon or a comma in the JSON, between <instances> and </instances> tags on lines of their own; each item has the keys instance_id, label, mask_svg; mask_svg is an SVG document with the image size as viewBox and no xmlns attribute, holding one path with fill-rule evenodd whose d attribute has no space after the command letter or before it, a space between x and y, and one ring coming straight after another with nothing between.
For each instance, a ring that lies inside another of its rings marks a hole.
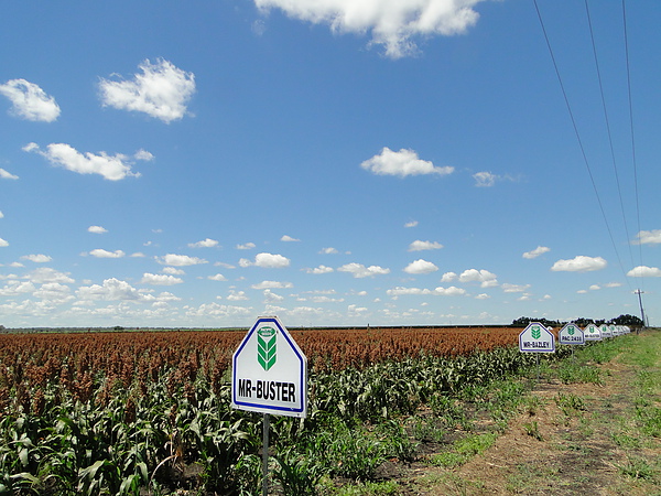
<instances>
[{"instance_id":1,"label":"dry dirt path with patchy grass beside the crop, lower right","mask_svg":"<svg viewBox=\"0 0 661 496\"><path fill-rule=\"evenodd\" d=\"M413 467L405 494L661 495L661 440L636 421L639 370L599 368L602 385L542 379L490 449L454 470Z\"/></svg>"}]
</instances>

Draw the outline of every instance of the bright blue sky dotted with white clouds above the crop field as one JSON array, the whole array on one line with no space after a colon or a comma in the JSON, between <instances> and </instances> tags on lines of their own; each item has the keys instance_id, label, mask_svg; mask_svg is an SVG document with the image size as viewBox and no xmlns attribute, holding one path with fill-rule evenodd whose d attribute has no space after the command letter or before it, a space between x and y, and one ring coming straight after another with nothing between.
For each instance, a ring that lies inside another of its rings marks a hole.
<instances>
[{"instance_id":1,"label":"bright blue sky dotted with white clouds above the crop field","mask_svg":"<svg viewBox=\"0 0 661 496\"><path fill-rule=\"evenodd\" d=\"M538 6L563 86L532 1L6 2L0 324L660 324L661 4L633 139L621 2Z\"/></svg>"}]
</instances>

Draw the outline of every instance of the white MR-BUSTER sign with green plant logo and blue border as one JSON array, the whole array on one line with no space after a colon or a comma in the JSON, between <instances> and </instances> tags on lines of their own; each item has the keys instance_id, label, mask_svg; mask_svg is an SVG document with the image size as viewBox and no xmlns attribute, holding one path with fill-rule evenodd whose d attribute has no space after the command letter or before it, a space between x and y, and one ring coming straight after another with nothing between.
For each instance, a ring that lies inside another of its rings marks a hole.
<instances>
[{"instance_id":1,"label":"white MR-BUSTER sign with green plant logo and blue border","mask_svg":"<svg viewBox=\"0 0 661 496\"><path fill-rule=\"evenodd\" d=\"M307 359L277 316L261 316L232 355L231 406L307 416Z\"/></svg>"}]
</instances>

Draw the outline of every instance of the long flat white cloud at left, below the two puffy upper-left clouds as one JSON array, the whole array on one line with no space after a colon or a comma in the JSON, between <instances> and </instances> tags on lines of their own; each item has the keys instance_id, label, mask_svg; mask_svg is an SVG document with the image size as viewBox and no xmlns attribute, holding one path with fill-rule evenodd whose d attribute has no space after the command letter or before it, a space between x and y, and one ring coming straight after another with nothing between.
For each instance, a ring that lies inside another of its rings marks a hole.
<instances>
[{"instance_id":1,"label":"long flat white cloud at left, below the two puffy upper-left clouds","mask_svg":"<svg viewBox=\"0 0 661 496\"><path fill-rule=\"evenodd\" d=\"M133 162L121 153L115 155L106 152L80 153L66 143L51 143L46 147L46 151L42 151L36 143L28 143L23 147L23 151L39 153L53 165L59 165L67 171L78 174L99 174L108 181L140 176L140 173L131 172Z\"/></svg>"}]
</instances>

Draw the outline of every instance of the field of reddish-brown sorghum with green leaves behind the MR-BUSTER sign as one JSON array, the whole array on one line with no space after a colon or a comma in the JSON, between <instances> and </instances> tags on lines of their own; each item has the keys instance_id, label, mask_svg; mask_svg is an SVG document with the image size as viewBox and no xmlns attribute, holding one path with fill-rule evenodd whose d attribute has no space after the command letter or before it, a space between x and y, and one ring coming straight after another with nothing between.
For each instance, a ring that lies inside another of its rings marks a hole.
<instances>
[{"instance_id":1,"label":"field of reddish-brown sorghum with green leaves behind the MR-BUSTER sign","mask_svg":"<svg viewBox=\"0 0 661 496\"><path fill-rule=\"evenodd\" d=\"M274 494L370 481L386 460L410 462L451 428L470 431L456 402L466 388L534 365L520 332L292 331L308 359L308 414L272 420ZM261 416L230 408L243 335L1 334L0 494L260 494ZM494 413L495 428L505 420Z\"/></svg>"}]
</instances>

